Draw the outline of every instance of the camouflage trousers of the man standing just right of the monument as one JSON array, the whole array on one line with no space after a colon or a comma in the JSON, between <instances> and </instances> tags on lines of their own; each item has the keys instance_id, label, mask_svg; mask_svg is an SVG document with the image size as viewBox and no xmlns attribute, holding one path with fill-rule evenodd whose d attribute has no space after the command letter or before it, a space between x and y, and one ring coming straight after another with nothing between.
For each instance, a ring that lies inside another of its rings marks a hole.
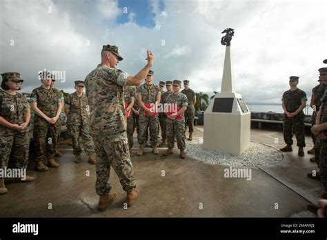
<instances>
[{"instance_id":1,"label":"camouflage trousers of the man standing just right of the monument","mask_svg":"<svg viewBox=\"0 0 327 240\"><path fill-rule=\"evenodd\" d=\"M297 117L286 117L284 116L283 122L283 132L284 132L284 141L286 144L293 145L293 128L295 132L295 136L297 138L297 146L298 147L305 147L305 126L304 126L304 118L297 118Z\"/></svg>"}]
</instances>

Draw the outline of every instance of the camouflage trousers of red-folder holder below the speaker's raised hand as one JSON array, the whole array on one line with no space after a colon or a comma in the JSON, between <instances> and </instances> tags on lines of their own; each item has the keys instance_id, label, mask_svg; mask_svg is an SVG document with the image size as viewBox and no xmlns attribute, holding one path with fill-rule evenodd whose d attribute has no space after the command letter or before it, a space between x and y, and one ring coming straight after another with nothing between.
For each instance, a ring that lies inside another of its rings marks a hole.
<instances>
[{"instance_id":1,"label":"camouflage trousers of red-folder holder below the speaker's raised hand","mask_svg":"<svg viewBox=\"0 0 327 240\"><path fill-rule=\"evenodd\" d=\"M139 115L139 134L137 135L139 144L146 143L146 131L148 130L149 125L151 146L157 146L158 122L158 117L148 117L143 113Z\"/></svg>"}]
</instances>

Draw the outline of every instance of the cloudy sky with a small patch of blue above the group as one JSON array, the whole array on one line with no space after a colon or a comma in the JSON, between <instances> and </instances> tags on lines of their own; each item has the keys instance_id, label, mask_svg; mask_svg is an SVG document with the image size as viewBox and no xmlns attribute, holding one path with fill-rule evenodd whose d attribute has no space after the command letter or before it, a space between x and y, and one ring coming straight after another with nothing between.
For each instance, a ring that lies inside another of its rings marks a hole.
<instances>
[{"instance_id":1,"label":"cloudy sky with a small patch of blue above the group","mask_svg":"<svg viewBox=\"0 0 327 240\"><path fill-rule=\"evenodd\" d=\"M235 88L246 103L280 103L291 75L310 100L327 58L327 1L2 0L0 8L0 72L20 72L22 92L40 86L43 69L65 72L56 87L74 92L111 44L124 58L119 69L136 74L152 50L155 83L190 79L210 96L221 87L225 28L235 29Z\"/></svg>"}]
</instances>

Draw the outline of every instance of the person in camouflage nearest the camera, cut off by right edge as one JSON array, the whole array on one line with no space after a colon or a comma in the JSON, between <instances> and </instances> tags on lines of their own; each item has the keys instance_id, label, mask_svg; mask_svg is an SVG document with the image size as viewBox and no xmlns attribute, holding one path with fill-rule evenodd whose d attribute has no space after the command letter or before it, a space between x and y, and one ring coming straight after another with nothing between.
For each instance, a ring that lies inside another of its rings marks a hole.
<instances>
[{"instance_id":1,"label":"person in camouflage nearest the camera, cut off by right edge","mask_svg":"<svg viewBox=\"0 0 327 240\"><path fill-rule=\"evenodd\" d=\"M327 68L319 69L321 79L327 80ZM319 119L318 119L319 117ZM317 114L317 125L313 126L312 131L320 139L319 168L320 179L324 184L325 192L322 194L327 199L327 90L321 98L321 107ZM318 134L317 134L318 133Z\"/></svg>"}]
</instances>

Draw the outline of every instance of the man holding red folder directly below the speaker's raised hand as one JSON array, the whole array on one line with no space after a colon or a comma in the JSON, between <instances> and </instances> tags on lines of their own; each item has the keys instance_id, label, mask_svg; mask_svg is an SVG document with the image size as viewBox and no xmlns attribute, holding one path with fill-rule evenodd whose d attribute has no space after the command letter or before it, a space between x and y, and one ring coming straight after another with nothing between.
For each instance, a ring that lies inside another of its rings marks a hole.
<instances>
[{"instance_id":1,"label":"man holding red folder directly below the speaker's raised hand","mask_svg":"<svg viewBox=\"0 0 327 240\"><path fill-rule=\"evenodd\" d=\"M143 108L143 110L146 110L146 107L144 106L146 103L153 103L155 102L159 103L160 101L160 90L158 86L155 86L155 84L152 83L152 77L153 77L153 71L150 70L148 72L148 75L146 77L146 83L143 83L143 85L139 86L137 89L137 98L139 101L139 106ZM142 106L143 104L143 106ZM158 132L158 117L150 117L144 114L143 110L140 111L139 115L139 134L137 136L137 139L139 141L139 151L137 152L138 156L141 156L143 154L143 148L146 146L146 130L147 126L150 128L150 137L151 137L151 146L152 146L152 152L154 154L159 154L157 150L157 132Z\"/></svg>"}]
</instances>

